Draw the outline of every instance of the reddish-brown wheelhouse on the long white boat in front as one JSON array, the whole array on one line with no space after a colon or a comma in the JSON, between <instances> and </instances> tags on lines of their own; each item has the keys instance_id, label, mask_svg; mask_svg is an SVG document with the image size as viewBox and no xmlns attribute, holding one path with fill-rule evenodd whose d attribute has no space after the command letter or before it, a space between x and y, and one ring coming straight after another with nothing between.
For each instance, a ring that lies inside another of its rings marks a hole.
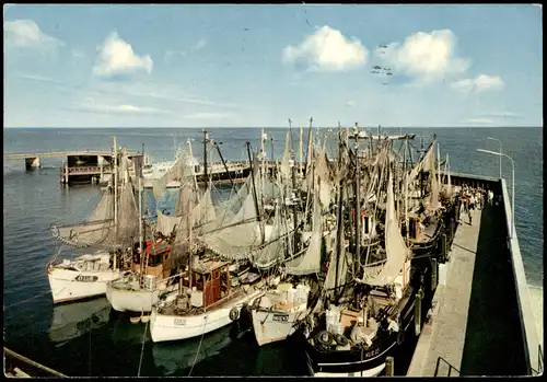
<instances>
[{"instance_id":1,"label":"reddish-brown wheelhouse on the long white boat in front","mask_svg":"<svg viewBox=\"0 0 547 382\"><path fill-rule=\"evenodd\" d=\"M195 294L202 293L202 306L210 308L230 294L230 264L226 262L200 263L191 271L191 286Z\"/></svg>"}]
</instances>

